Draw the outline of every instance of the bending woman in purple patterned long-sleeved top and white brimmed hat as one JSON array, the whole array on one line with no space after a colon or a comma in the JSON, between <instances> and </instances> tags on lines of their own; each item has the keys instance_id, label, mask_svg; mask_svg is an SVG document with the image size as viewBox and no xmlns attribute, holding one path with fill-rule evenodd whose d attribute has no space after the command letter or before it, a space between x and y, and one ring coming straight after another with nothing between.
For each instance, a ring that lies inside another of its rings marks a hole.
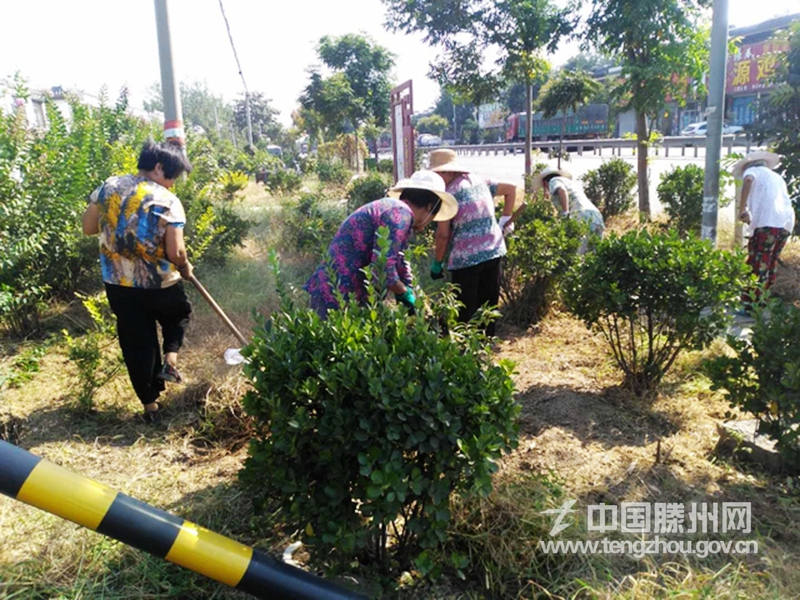
<instances>
[{"instance_id":1,"label":"bending woman in purple patterned long-sleeved top and white brimmed hat","mask_svg":"<svg viewBox=\"0 0 800 600\"><path fill-rule=\"evenodd\" d=\"M389 230L389 253L386 257L386 285L401 304L413 311L416 298L411 290L411 269L403 252L411 231L422 231L431 221L452 219L458 207L455 198L445 192L442 178L432 171L417 171L397 182L388 197L375 200L348 216L328 247L328 257L317 268L303 289L311 295L311 307L320 316L339 308L328 270L336 274L336 284L345 296L359 304L367 300L362 272L377 250L378 228Z\"/></svg>"}]
</instances>

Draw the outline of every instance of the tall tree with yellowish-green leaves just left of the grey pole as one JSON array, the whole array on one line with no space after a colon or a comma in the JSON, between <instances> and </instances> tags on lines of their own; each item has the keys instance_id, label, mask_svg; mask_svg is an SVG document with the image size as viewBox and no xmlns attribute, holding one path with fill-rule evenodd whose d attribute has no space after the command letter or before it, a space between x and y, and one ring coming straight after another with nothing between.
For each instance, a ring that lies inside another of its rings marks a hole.
<instances>
[{"instance_id":1,"label":"tall tree with yellowish-green leaves just left of the grey pole","mask_svg":"<svg viewBox=\"0 0 800 600\"><path fill-rule=\"evenodd\" d=\"M639 211L650 217L648 117L667 97L681 100L688 77L708 69L707 30L700 27L710 0L592 0L585 46L602 48L622 65L617 95L636 115Z\"/></svg>"}]
</instances>

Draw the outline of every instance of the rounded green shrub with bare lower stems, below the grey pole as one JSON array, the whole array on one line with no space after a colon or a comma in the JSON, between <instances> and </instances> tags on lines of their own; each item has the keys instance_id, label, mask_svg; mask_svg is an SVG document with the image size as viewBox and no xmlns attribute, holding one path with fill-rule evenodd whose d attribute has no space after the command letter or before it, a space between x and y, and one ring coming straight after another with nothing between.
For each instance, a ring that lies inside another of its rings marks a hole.
<instances>
[{"instance_id":1,"label":"rounded green shrub with bare lower stems, below the grey pole","mask_svg":"<svg viewBox=\"0 0 800 600\"><path fill-rule=\"evenodd\" d=\"M683 349L707 346L738 303L749 268L739 254L676 233L602 240L567 278L565 300L602 333L625 385L654 390Z\"/></svg>"}]
</instances>

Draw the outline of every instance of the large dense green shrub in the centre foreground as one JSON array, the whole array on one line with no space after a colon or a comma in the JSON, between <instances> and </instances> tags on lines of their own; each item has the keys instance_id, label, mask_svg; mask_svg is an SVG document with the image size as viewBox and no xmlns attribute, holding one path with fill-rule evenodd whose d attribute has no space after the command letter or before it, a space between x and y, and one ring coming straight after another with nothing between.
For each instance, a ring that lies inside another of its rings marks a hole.
<instances>
[{"instance_id":1,"label":"large dense green shrub in the centre foreground","mask_svg":"<svg viewBox=\"0 0 800 600\"><path fill-rule=\"evenodd\" d=\"M453 492L491 491L519 407L512 365L493 364L479 325L456 322L452 293L429 318L424 297L419 316L383 301L385 228L378 246L364 307L342 298L322 320L279 284L280 309L243 350L256 437L241 479L304 542L385 564L390 548L411 558L447 538Z\"/></svg>"}]
</instances>

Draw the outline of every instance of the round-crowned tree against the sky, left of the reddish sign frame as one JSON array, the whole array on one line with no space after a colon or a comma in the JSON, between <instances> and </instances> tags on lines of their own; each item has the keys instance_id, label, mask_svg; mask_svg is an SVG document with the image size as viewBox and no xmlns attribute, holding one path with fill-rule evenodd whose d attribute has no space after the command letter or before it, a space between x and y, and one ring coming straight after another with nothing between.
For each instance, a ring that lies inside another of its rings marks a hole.
<instances>
[{"instance_id":1,"label":"round-crowned tree against the sky, left of the reddish sign frame","mask_svg":"<svg viewBox=\"0 0 800 600\"><path fill-rule=\"evenodd\" d=\"M320 115L328 131L352 127L358 154L359 128L367 122L378 127L388 122L394 55L360 34L323 36L317 55L330 74L323 76L318 67L312 68L300 104ZM356 163L360 165L358 156Z\"/></svg>"}]
</instances>

